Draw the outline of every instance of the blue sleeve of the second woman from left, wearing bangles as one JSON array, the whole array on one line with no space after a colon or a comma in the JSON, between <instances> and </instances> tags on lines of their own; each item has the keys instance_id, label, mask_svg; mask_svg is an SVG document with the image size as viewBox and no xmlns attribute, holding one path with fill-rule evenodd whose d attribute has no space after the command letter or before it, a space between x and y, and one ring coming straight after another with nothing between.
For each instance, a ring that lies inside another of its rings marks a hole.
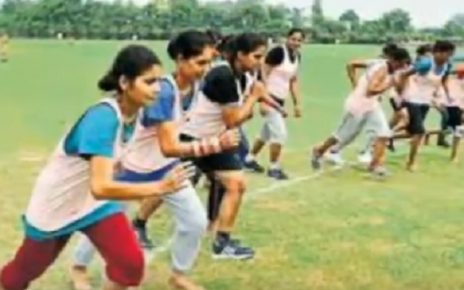
<instances>
[{"instance_id":1,"label":"blue sleeve of the second woman from left, wearing bangles","mask_svg":"<svg viewBox=\"0 0 464 290\"><path fill-rule=\"evenodd\" d=\"M143 112L142 124L149 127L172 120L174 99L174 88L168 81L162 81L158 98Z\"/></svg>"}]
</instances>

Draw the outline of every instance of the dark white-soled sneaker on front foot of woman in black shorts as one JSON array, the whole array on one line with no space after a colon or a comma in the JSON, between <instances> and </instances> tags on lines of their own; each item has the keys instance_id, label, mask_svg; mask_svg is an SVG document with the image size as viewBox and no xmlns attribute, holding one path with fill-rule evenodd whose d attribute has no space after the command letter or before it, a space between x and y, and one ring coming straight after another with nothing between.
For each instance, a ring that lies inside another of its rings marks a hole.
<instances>
[{"instance_id":1,"label":"dark white-soled sneaker on front foot of woman in black shorts","mask_svg":"<svg viewBox=\"0 0 464 290\"><path fill-rule=\"evenodd\" d=\"M215 260L250 260L255 251L250 247L241 246L237 240L218 241L213 243L213 259Z\"/></svg>"}]
</instances>

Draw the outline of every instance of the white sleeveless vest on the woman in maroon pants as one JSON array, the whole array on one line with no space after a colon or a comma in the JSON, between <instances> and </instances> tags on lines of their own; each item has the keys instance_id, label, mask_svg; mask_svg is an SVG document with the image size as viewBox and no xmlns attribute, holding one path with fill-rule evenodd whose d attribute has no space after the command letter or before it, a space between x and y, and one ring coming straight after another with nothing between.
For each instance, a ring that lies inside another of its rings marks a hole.
<instances>
[{"instance_id":1,"label":"white sleeveless vest on the woman in maroon pants","mask_svg":"<svg viewBox=\"0 0 464 290\"><path fill-rule=\"evenodd\" d=\"M110 105L118 116L114 144L114 161L117 163L124 154L121 111L115 98L105 98L99 103ZM91 193L90 162L64 152L66 136L42 169L26 210L27 222L46 232L62 229L108 202L96 200Z\"/></svg>"}]
</instances>

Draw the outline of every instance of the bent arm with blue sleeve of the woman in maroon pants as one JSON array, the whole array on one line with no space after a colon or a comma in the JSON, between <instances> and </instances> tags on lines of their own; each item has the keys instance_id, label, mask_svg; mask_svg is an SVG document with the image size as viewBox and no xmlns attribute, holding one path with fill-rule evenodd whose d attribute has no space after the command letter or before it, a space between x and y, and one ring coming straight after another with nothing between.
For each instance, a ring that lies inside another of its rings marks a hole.
<instances>
[{"instance_id":1,"label":"bent arm with blue sleeve of the woman in maroon pants","mask_svg":"<svg viewBox=\"0 0 464 290\"><path fill-rule=\"evenodd\" d=\"M192 169L184 164L159 182L129 183L114 180L114 143L120 121L107 104L91 107L66 137L64 150L89 162L90 190L97 199L130 200L169 194L181 188Z\"/></svg>"}]
</instances>

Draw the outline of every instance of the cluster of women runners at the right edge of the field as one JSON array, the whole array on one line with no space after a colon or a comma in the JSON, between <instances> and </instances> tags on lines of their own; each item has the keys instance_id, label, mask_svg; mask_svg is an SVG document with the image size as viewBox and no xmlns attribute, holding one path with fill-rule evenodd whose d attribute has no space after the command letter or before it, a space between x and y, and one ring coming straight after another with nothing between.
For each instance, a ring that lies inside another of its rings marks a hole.
<instances>
[{"instance_id":1,"label":"cluster of women runners at the right edge of the field","mask_svg":"<svg viewBox=\"0 0 464 290\"><path fill-rule=\"evenodd\" d=\"M410 138L406 169L417 170L417 155L425 137L438 135L437 144L449 147L446 136L453 135L451 161L457 161L463 136L464 66L452 64L455 45L446 40L422 45L415 59L396 44L384 47L379 59L354 60L348 64L353 90L346 99L342 122L335 133L312 150L314 169L322 167L325 156L331 163L343 165L341 151L363 130L367 144L359 160L376 177L386 177L386 148L394 151L394 140ZM358 78L357 70L363 69ZM382 99L389 98L393 116L387 120ZM426 130L429 109L440 112L440 129Z\"/></svg>"}]
</instances>

